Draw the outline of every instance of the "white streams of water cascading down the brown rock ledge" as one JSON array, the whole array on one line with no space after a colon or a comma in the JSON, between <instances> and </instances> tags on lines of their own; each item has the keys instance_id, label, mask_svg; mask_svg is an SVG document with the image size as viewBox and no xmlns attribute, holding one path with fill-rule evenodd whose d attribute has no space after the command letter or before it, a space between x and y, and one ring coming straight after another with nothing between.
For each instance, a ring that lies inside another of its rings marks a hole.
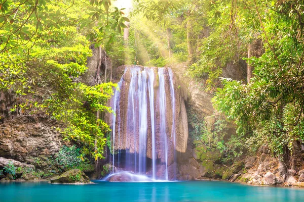
<instances>
[{"instance_id":1,"label":"white streams of water cascading down the brown rock ledge","mask_svg":"<svg viewBox=\"0 0 304 202\"><path fill-rule=\"evenodd\" d=\"M176 179L172 70L127 67L118 86L112 102L112 173Z\"/></svg>"}]
</instances>

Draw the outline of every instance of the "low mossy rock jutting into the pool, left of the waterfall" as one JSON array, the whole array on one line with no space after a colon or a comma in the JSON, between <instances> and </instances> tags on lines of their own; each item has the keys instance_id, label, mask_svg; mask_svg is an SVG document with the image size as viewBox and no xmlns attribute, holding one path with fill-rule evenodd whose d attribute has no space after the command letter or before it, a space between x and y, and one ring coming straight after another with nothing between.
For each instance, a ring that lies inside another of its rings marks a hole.
<instances>
[{"instance_id":1,"label":"low mossy rock jutting into the pool, left of the waterfall","mask_svg":"<svg viewBox=\"0 0 304 202\"><path fill-rule=\"evenodd\" d=\"M51 178L51 183L92 183L88 176L79 169L72 169L62 175Z\"/></svg>"}]
</instances>

